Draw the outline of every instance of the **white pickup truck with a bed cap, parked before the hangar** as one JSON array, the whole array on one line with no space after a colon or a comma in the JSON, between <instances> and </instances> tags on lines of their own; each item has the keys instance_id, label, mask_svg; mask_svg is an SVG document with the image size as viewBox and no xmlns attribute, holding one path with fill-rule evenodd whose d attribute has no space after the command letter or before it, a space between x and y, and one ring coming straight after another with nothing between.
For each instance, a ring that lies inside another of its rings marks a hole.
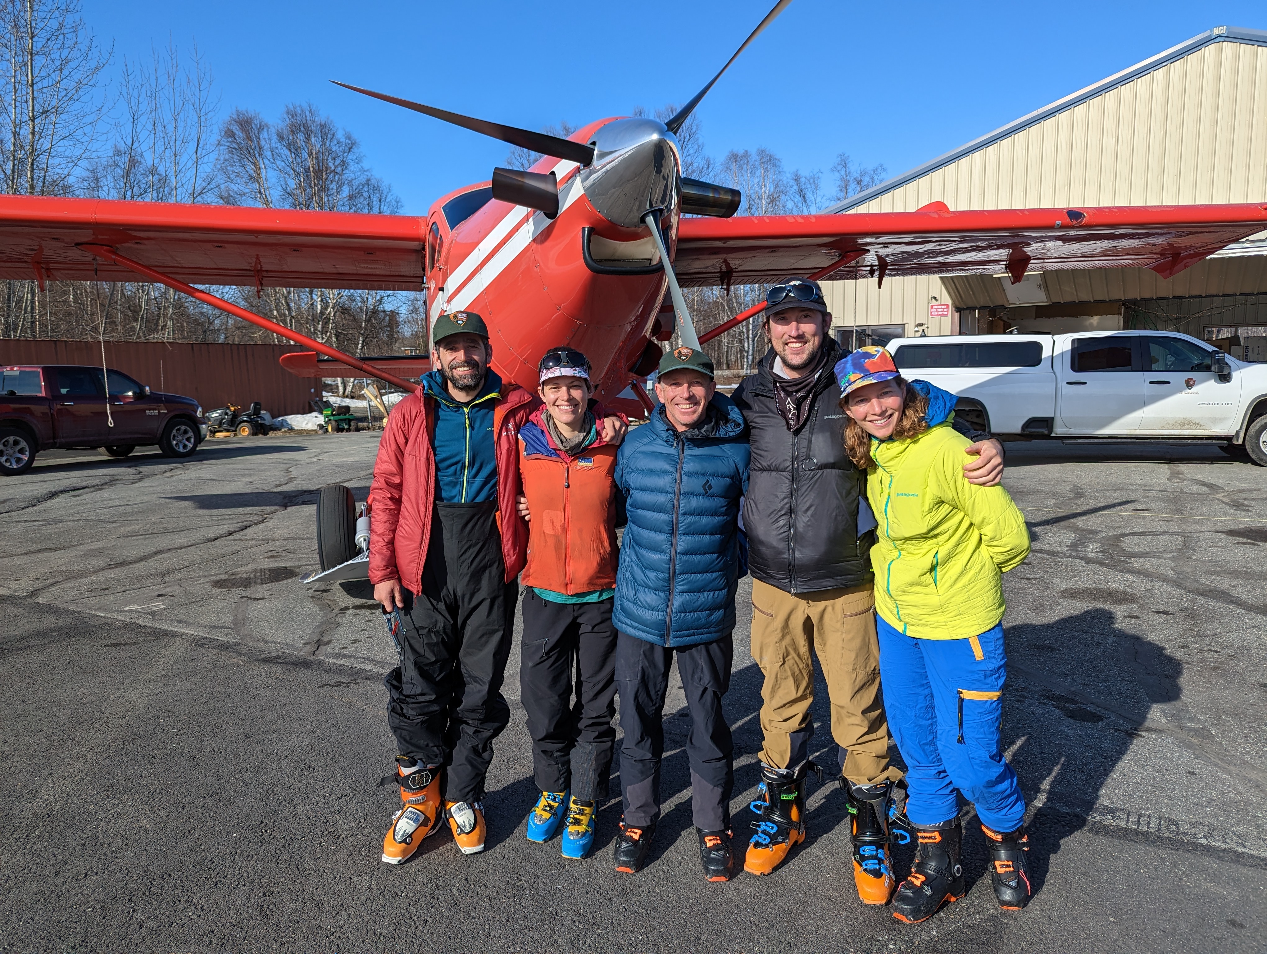
<instances>
[{"instance_id":1,"label":"white pickup truck with a bed cap, parked before the hangar","mask_svg":"<svg viewBox=\"0 0 1267 954\"><path fill-rule=\"evenodd\" d=\"M1267 364L1163 331L895 338L907 379L992 433L1210 441L1267 466Z\"/></svg>"}]
</instances>

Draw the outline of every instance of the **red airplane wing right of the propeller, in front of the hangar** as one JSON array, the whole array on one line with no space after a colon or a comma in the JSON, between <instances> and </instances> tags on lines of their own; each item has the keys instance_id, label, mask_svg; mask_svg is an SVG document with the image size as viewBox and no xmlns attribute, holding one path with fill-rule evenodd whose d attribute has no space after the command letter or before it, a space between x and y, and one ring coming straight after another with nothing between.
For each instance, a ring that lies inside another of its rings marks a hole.
<instances>
[{"instance_id":1,"label":"red airplane wing right of the propeller, in front of the hangar","mask_svg":"<svg viewBox=\"0 0 1267 954\"><path fill-rule=\"evenodd\" d=\"M789 275L997 275L1147 267L1172 277L1267 228L1267 205L1152 205L683 218L683 285L755 285ZM832 269L835 264L835 269Z\"/></svg>"}]
</instances>

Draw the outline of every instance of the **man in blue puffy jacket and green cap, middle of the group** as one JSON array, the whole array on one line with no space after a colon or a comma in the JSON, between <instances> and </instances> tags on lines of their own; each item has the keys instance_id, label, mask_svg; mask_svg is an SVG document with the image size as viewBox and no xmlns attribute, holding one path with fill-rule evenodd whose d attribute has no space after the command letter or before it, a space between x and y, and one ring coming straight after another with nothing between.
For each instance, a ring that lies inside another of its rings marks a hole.
<instances>
[{"instance_id":1,"label":"man in blue puffy jacket and green cap, middle of the group","mask_svg":"<svg viewBox=\"0 0 1267 954\"><path fill-rule=\"evenodd\" d=\"M661 720L677 654L692 721L687 758L699 856L708 881L729 881L735 773L721 698L734 651L748 440L742 414L716 393L702 351L666 353L655 394L650 423L630 432L616 465L628 514L612 609L625 731L616 870L644 865L660 817Z\"/></svg>"}]
</instances>

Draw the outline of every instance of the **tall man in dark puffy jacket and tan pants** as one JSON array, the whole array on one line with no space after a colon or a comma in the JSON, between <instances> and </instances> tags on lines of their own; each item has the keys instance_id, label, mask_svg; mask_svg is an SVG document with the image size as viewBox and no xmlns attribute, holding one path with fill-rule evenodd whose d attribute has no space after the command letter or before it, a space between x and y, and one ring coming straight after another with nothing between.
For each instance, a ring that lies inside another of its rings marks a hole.
<instances>
[{"instance_id":1,"label":"tall man in dark puffy jacket and tan pants","mask_svg":"<svg viewBox=\"0 0 1267 954\"><path fill-rule=\"evenodd\" d=\"M761 668L761 792L745 869L769 874L805 839L805 779L813 721L813 656L831 698L840 784L853 824L854 881L863 903L893 892L888 853L893 783L879 696L879 650L870 569L875 519L865 474L844 446L822 289L789 279L769 290L763 318L770 350L734 400L748 422L751 471L744 502L753 573L753 659ZM977 441L964 479L997 484L1002 446L960 422ZM756 803L754 803L755 806Z\"/></svg>"}]
</instances>

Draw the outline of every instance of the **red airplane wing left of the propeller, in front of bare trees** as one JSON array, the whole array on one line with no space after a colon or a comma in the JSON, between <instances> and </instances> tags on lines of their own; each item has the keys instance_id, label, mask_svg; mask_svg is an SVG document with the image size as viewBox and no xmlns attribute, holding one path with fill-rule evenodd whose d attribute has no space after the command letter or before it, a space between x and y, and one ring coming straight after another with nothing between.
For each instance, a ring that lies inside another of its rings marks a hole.
<instances>
[{"instance_id":1,"label":"red airplane wing left of the propeller, in front of bare trees","mask_svg":"<svg viewBox=\"0 0 1267 954\"><path fill-rule=\"evenodd\" d=\"M189 284L419 291L424 239L409 215L6 195L0 279L137 281L76 247L99 245Z\"/></svg>"}]
</instances>

